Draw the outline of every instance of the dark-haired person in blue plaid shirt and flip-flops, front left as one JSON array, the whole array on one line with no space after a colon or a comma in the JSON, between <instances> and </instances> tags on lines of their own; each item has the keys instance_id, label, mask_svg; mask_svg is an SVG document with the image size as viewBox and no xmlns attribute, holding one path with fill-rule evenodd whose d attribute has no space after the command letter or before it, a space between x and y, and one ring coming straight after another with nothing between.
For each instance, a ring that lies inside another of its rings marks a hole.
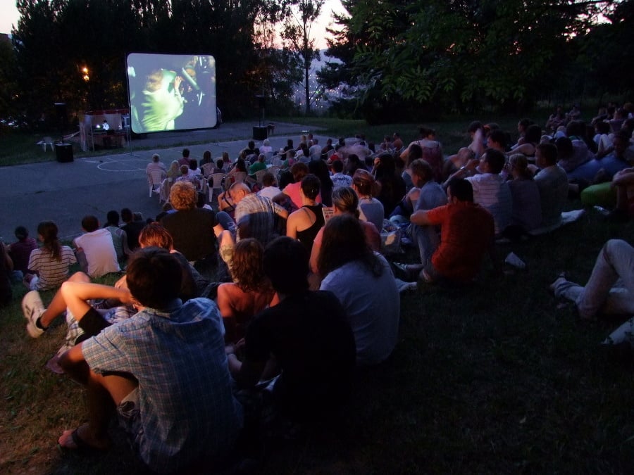
<instances>
[{"instance_id":1,"label":"dark-haired person in blue plaid shirt and flip-flops, front left","mask_svg":"<svg viewBox=\"0 0 634 475\"><path fill-rule=\"evenodd\" d=\"M92 298L94 284L64 285L81 300ZM158 473L185 473L203 460L209 469L235 443L242 407L231 391L220 313L206 298L181 303L180 285L180 264L168 251L132 256L128 300L139 313L59 360L86 386L88 408L86 424L62 433L62 448L109 448L113 407L135 452Z\"/></svg>"}]
</instances>

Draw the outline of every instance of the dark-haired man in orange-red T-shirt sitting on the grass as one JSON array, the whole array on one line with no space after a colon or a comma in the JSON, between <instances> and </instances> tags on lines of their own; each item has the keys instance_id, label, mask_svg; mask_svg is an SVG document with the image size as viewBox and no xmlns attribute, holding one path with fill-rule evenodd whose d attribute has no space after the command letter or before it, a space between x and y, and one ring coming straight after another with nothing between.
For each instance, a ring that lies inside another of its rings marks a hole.
<instances>
[{"instance_id":1,"label":"dark-haired man in orange-red T-shirt sitting on the grass","mask_svg":"<svg viewBox=\"0 0 634 475\"><path fill-rule=\"evenodd\" d=\"M480 272L484 255L489 253L493 259L493 216L473 203L471 183L452 179L447 186L447 199L447 205L418 210L410 217L418 226L440 226L440 244L418 274L418 279L428 283L471 281ZM495 259L493 264L496 265Z\"/></svg>"}]
</instances>

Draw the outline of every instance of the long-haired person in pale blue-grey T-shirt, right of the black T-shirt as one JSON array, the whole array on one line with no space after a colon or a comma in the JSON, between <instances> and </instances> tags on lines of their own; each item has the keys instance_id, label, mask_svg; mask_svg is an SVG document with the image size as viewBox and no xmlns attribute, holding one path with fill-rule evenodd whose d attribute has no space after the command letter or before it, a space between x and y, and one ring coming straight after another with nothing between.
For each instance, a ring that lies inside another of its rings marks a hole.
<instances>
[{"instance_id":1,"label":"long-haired person in pale blue-grey T-shirt, right of the black T-shirt","mask_svg":"<svg viewBox=\"0 0 634 475\"><path fill-rule=\"evenodd\" d=\"M368 247L359 220L340 215L328 221L318 267L320 289L334 293L346 310L357 365L385 360L397 343L399 291L390 265Z\"/></svg>"}]
</instances>

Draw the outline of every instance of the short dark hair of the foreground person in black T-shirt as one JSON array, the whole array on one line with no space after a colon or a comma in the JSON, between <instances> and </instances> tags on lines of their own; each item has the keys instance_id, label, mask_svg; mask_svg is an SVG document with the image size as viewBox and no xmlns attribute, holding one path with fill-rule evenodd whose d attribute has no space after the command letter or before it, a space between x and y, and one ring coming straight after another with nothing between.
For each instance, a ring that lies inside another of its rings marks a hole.
<instances>
[{"instance_id":1,"label":"short dark hair of the foreground person in black T-shirt","mask_svg":"<svg viewBox=\"0 0 634 475\"><path fill-rule=\"evenodd\" d=\"M309 254L304 244L288 236L273 239L264 249L264 273L276 292L308 290Z\"/></svg>"}]
</instances>

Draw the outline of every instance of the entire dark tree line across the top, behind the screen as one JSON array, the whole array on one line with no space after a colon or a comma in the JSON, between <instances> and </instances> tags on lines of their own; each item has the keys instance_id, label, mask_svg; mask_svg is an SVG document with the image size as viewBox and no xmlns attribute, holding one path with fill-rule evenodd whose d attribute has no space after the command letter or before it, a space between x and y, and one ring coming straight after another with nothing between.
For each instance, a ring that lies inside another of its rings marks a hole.
<instances>
[{"instance_id":1,"label":"entire dark tree line across the top, behind the screen","mask_svg":"<svg viewBox=\"0 0 634 475\"><path fill-rule=\"evenodd\" d=\"M125 107L125 56L141 52L213 55L225 118L257 115L256 94L269 98L269 113L287 113L294 86L306 82L317 56L307 32L321 4L18 0L13 49L0 44L0 110L37 119L57 101L71 112ZM340 63L319 77L323 87L344 84L353 99L337 109L349 115L391 121L483 107L521 113L537 101L632 93L634 0L342 4L349 14L335 16L327 53ZM275 29L282 25L287 46L279 48Z\"/></svg>"}]
</instances>

